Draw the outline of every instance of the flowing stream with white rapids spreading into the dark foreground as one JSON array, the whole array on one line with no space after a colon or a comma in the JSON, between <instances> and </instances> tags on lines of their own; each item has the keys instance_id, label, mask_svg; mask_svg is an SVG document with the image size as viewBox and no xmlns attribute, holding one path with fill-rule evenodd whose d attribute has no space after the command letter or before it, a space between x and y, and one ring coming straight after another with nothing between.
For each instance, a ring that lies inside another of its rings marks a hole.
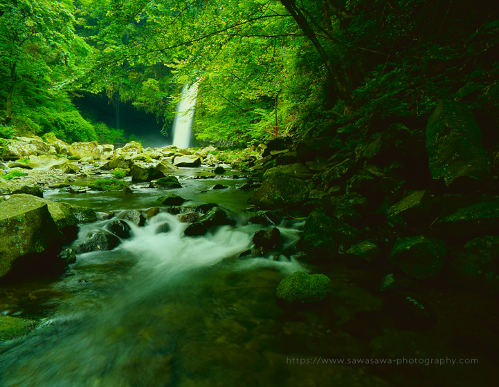
<instances>
[{"instance_id":1,"label":"flowing stream with white rapids spreading into the dark foreground","mask_svg":"<svg viewBox=\"0 0 499 387\"><path fill-rule=\"evenodd\" d=\"M122 211L156 207L154 200L167 193L188 199L184 207L215 202L237 225L188 237L183 236L188 223L161 212L143 227L130 223L131 237L111 251L78 254L58 279L2 285L2 314L37 317L42 323L27 337L0 344L0 386L467 386L471 380L485 386L496 372L497 355L484 357L486 343L479 343L484 348L472 343L469 349L442 336L444 330L449 337L466 337L453 319L460 315L460 323L473 322L460 311L449 307L443 328L422 333L386 323L390 313L372 291L377 273L326 267L332 278L327 305L299 310L280 305L275 289L285 276L297 270L318 272L289 254L305 218L282 218L282 254L240 258L255 231L270 227L248 223L251 213L244 209L252 191L236 189L246 180L193 179L212 175L203 168L174 174L183 188L136 185L127 196L44 193L45 198L115 215L82 225L79 238L102 229ZM210 190L217 183L228 188ZM170 231L158 233L165 223ZM427 299L432 297L437 296L430 292ZM459 297L471 316L478 310L483 317L481 311L496 308L487 299ZM456 300L451 292L437 298ZM491 330L489 320L483 321L485 326L473 325L479 337ZM481 362L459 367L312 364L317 357L398 359L414 353L421 358L479 355Z\"/></svg>"}]
</instances>

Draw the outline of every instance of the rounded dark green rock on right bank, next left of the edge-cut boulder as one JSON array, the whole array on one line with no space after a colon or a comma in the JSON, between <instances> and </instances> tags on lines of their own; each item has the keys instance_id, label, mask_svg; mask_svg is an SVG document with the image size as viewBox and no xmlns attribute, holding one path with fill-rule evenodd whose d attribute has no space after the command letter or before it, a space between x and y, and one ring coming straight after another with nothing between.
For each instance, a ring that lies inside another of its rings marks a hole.
<instances>
[{"instance_id":1,"label":"rounded dark green rock on right bank, next left of the edge-cut boulder","mask_svg":"<svg viewBox=\"0 0 499 387\"><path fill-rule=\"evenodd\" d=\"M429 279L444 264L443 240L425 236L398 238L391 252L392 263L415 279Z\"/></svg>"}]
</instances>

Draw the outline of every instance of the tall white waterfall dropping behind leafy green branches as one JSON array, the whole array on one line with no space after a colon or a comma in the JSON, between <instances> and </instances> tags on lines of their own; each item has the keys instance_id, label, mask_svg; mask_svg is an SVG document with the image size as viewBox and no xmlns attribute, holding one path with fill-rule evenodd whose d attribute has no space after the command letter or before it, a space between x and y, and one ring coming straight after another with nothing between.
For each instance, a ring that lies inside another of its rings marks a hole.
<instances>
[{"instance_id":1,"label":"tall white waterfall dropping behind leafy green branches","mask_svg":"<svg viewBox=\"0 0 499 387\"><path fill-rule=\"evenodd\" d=\"M173 144L175 147L188 148L190 146L190 127L194 118L198 82L192 86L183 86L181 100L176 106L173 120Z\"/></svg>"}]
</instances>

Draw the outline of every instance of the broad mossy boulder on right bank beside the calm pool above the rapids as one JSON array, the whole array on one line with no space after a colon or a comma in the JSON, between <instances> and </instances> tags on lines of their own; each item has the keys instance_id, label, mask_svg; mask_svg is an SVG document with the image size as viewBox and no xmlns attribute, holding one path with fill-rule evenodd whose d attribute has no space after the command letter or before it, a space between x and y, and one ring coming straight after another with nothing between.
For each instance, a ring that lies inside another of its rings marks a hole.
<instances>
[{"instance_id":1,"label":"broad mossy boulder on right bank beside the calm pool above the rapids","mask_svg":"<svg viewBox=\"0 0 499 387\"><path fill-rule=\"evenodd\" d=\"M250 198L253 204L266 208L296 207L307 199L309 183L297 178L305 173L302 174L297 168L286 167L290 166L282 165L264 173L262 186L255 189ZM303 168L307 169L305 166Z\"/></svg>"}]
</instances>

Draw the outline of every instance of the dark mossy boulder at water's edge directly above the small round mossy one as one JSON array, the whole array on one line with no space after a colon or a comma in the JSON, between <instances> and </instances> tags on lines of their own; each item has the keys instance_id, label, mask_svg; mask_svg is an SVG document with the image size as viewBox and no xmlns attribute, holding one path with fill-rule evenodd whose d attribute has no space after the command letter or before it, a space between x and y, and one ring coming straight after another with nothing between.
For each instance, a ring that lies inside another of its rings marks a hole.
<instances>
[{"instance_id":1,"label":"dark mossy boulder at water's edge directly above the small round mossy one","mask_svg":"<svg viewBox=\"0 0 499 387\"><path fill-rule=\"evenodd\" d=\"M310 261L327 261L336 256L338 245L349 245L358 235L354 227L314 211L305 221L298 249L305 252Z\"/></svg>"}]
</instances>

